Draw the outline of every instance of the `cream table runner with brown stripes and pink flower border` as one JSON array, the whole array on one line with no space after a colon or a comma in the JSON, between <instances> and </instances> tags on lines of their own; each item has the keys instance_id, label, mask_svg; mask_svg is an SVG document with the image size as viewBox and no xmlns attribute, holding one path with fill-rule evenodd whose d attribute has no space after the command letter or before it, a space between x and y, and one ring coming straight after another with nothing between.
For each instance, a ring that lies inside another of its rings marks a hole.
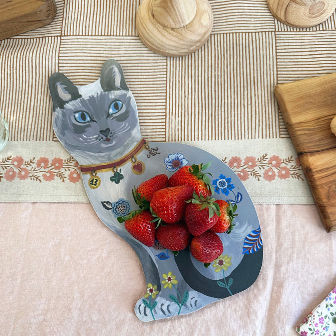
<instances>
[{"instance_id":1,"label":"cream table runner with brown stripes and pink flower border","mask_svg":"<svg viewBox=\"0 0 336 336\"><path fill-rule=\"evenodd\" d=\"M87 202L78 167L52 130L48 78L63 72L85 85L114 58L145 138L211 151L234 168L255 202L313 203L273 88L336 71L335 13L300 29L277 21L265 0L210 0L209 41L169 58L138 38L139 3L56 0L51 24L0 41L0 110L10 127L0 153L0 201Z\"/></svg>"}]
</instances>

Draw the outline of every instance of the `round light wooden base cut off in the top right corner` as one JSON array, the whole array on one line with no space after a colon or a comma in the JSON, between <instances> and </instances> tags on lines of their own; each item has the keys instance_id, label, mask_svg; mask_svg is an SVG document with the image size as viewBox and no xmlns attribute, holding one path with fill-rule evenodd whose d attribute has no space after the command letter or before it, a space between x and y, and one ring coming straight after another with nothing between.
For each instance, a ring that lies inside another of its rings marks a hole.
<instances>
[{"instance_id":1,"label":"round light wooden base cut off in the top right corner","mask_svg":"<svg viewBox=\"0 0 336 336\"><path fill-rule=\"evenodd\" d=\"M336 8L336 0L267 0L267 4L279 21L299 28L324 22Z\"/></svg>"}]
</instances>

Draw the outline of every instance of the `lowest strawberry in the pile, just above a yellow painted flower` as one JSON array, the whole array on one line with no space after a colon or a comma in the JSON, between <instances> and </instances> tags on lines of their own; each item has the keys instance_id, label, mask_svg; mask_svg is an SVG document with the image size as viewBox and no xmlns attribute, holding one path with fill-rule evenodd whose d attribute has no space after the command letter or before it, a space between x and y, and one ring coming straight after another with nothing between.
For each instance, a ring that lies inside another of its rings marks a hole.
<instances>
[{"instance_id":1,"label":"lowest strawberry in the pile, just above a yellow painted flower","mask_svg":"<svg viewBox=\"0 0 336 336\"><path fill-rule=\"evenodd\" d=\"M215 232L206 231L197 237L193 237L190 243L190 251L195 259L209 264L223 253L223 243Z\"/></svg>"}]
</instances>

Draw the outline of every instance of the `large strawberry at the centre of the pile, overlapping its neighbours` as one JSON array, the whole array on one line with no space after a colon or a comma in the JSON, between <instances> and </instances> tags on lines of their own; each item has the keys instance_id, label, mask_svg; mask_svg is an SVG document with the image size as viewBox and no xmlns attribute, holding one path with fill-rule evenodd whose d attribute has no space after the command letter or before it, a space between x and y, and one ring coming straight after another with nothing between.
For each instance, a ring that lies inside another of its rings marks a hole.
<instances>
[{"instance_id":1,"label":"large strawberry at the centre of the pile, overlapping its neighbours","mask_svg":"<svg viewBox=\"0 0 336 336\"><path fill-rule=\"evenodd\" d=\"M177 223L184 217L186 201L193 196L190 186L167 187L154 193L150 202L152 214L165 223Z\"/></svg>"}]
</instances>

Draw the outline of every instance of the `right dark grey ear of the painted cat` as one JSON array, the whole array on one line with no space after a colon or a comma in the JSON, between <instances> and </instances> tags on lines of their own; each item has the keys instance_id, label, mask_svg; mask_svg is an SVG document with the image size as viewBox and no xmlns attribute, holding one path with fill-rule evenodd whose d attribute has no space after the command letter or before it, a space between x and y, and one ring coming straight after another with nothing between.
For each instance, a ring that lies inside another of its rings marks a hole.
<instances>
[{"instance_id":1,"label":"right dark grey ear of the painted cat","mask_svg":"<svg viewBox=\"0 0 336 336\"><path fill-rule=\"evenodd\" d=\"M104 91L128 90L120 64L107 60L101 70L101 86Z\"/></svg>"}]
</instances>

